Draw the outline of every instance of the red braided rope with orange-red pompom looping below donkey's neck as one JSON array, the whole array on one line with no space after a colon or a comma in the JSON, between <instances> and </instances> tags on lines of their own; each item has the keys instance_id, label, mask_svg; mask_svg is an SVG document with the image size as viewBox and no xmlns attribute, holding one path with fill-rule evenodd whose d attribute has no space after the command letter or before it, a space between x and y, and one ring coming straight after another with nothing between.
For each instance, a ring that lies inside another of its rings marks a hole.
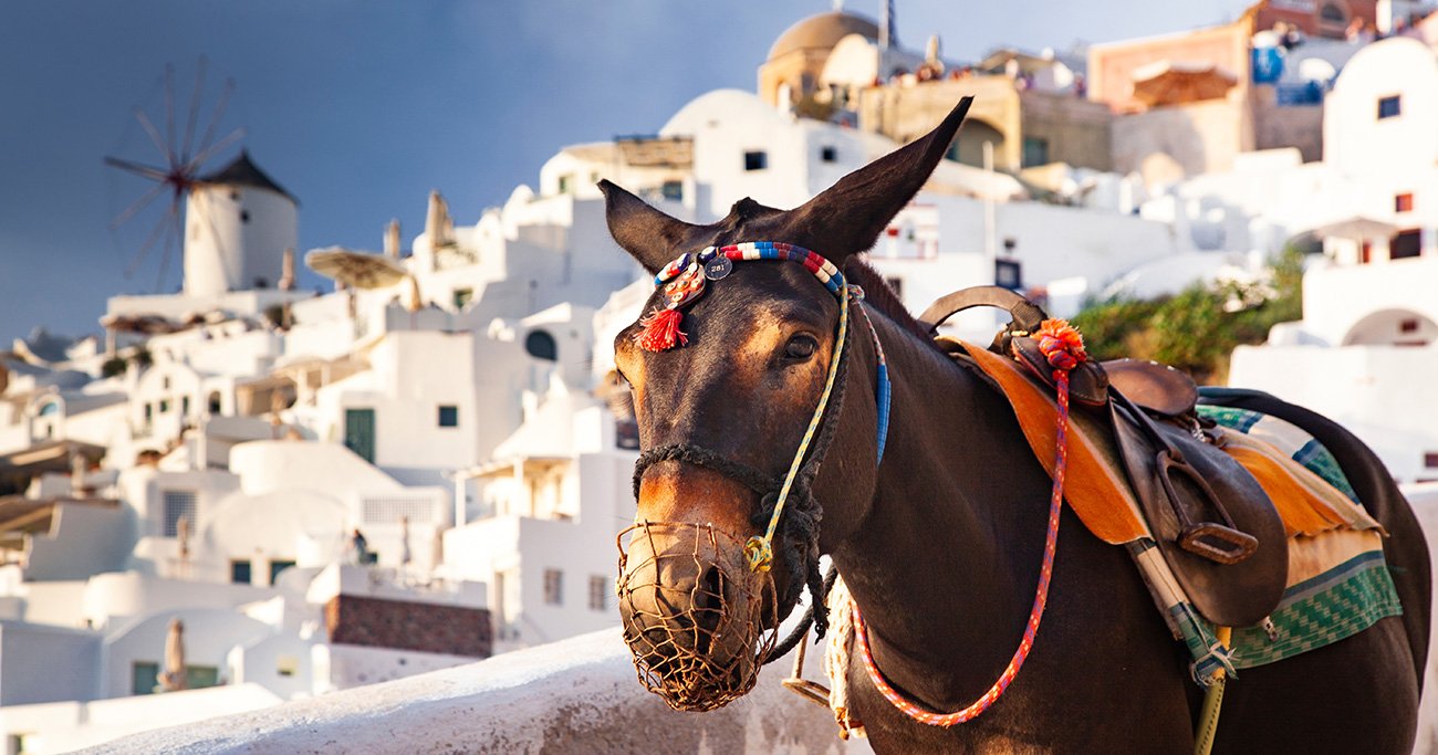
<instances>
[{"instance_id":1,"label":"red braided rope with orange-red pompom looping below donkey's neck","mask_svg":"<svg viewBox=\"0 0 1438 755\"><path fill-rule=\"evenodd\" d=\"M864 626L864 617L858 613L858 604L850 603L850 610L854 613L854 637L858 640L858 653L864 662L864 669L869 670L869 679L874 682L879 692L900 712L906 716L917 720L919 723L928 723L929 726L943 726L949 728L955 723L963 723L979 716L998 702L1004 690L1014 682L1018 676L1020 669L1024 667L1024 662L1028 660L1028 653L1034 649L1034 639L1038 636L1038 623L1044 618L1044 607L1048 603L1048 582L1054 575L1054 554L1058 551L1058 513L1063 511L1064 505L1064 470L1068 467L1068 371L1089 358L1083 348L1083 337L1078 331L1061 319L1047 319L1044 321L1038 337L1038 348L1048 358L1048 364L1054 365L1054 383L1058 387L1058 423L1055 433L1055 449L1054 449L1054 488L1048 498L1048 535L1044 541L1044 564L1038 569L1038 588L1034 594L1034 607L1028 611L1028 623L1024 626L1024 639L1020 640L1018 649L1014 650L1014 656L1008 660L1008 666L1004 673L999 674L998 680L985 692L978 700L974 700L968 708L962 710L955 710L952 713L935 713L922 708L919 703L907 699L896 690L879 670L879 664L874 663L874 654L869 647L869 628Z\"/></svg>"}]
</instances>

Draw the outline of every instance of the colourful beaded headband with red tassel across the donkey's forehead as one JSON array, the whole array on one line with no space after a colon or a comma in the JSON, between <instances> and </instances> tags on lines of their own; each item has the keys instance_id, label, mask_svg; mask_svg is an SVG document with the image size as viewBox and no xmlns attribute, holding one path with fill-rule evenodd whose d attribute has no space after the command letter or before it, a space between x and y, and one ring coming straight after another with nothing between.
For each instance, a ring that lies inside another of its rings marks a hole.
<instances>
[{"instance_id":1,"label":"colourful beaded headband with red tassel across the donkey's forehead","mask_svg":"<svg viewBox=\"0 0 1438 755\"><path fill-rule=\"evenodd\" d=\"M745 242L686 252L654 276L654 286L663 289L664 306L663 309L656 308L638 321L644 328L634 338L640 348L669 351L674 345L687 344L689 337L679 329L684 319L683 308L703 295L706 282L725 279L733 270L735 262L755 259L798 262L814 273L814 278L818 278L830 293L844 295L844 273L838 272L833 262L802 246L784 242Z\"/></svg>"}]
</instances>

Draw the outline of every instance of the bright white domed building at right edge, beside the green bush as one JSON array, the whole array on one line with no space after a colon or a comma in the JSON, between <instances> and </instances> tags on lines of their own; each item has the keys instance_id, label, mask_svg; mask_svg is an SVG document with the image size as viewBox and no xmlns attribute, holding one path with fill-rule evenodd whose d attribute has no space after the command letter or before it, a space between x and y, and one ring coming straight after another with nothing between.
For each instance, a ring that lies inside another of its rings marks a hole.
<instances>
[{"instance_id":1,"label":"bright white domed building at right edge, beside the green bush","mask_svg":"<svg viewBox=\"0 0 1438 755\"><path fill-rule=\"evenodd\" d=\"M1324 158L1211 177L1255 250L1322 240L1303 319L1234 352L1229 383L1340 421L1402 482L1438 479L1438 58L1414 39L1362 49L1329 93ZM1267 197L1267 201L1264 198ZM1254 229L1261 233L1252 233Z\"/></svg>"}]
</instances>

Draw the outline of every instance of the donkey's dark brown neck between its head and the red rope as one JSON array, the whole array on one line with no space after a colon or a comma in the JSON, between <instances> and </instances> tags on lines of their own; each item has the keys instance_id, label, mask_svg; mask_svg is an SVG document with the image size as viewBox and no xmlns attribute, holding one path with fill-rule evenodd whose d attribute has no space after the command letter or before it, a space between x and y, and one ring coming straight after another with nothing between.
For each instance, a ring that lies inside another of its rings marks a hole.
<instances>
[{"instance_id":1,"label":"donkey's dark brown neck between its head and the red rope","mask_svg":"<svg viewBox=\"0 0 1438 755\"><path fill-rule=\"evenodd\" d=\"M1022 634L1047 477L986 384L899 325L873 321L893 378L887 450L867 515L828 545L880 669L930 705L968 705Z\"/></svg>"}]
</instances>

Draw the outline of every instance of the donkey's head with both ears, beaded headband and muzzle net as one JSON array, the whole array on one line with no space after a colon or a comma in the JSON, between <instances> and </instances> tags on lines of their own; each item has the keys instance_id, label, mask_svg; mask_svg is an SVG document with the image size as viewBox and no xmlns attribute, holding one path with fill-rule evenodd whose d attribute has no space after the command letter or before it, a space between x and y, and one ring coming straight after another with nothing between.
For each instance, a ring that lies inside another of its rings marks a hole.
<instances>
[{"instance_id":1,"label":"donkey's head with both ears, beaded headband and muzzle net","mask_svg":"<svg viewBox=\"0 0 1438 755\"><path fill-rule=\"evenodd\" d=\"M804 475L778 519L772 567L751 541L769 525L843 349L835 322L847 290L825 285L824 269L874 244L943 157L968 105L794 210L745 198L699 226L600 184L614 240L660 279L679 280L659 288L649 316L614 341L643 449L638 523L620 542L620 611L640 679L674 708L716 708L748 692L779 618L814 582L820 512L804 505ZM758 256L749 242L781 243L779 257L800 260L784 250L792 244L823 259L758 262L723 250L739 244ZM720 260L706 276L715 256L733 263ZM670 329L656 334L666 309Z\"/></svg>"}]
</instances>

